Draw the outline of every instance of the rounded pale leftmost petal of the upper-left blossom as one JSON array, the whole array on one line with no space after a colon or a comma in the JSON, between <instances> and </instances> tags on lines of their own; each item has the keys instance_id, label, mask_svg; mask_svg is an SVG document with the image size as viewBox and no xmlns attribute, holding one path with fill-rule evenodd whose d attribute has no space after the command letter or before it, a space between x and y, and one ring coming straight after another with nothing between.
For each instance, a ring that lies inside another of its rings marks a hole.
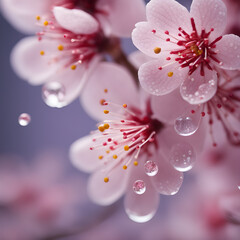
<instances>
[{"instance_id":1,"label":"rounded pale leftmost petal of the upper-left blossom","mask_svg":"<svg viewBox=\"0 0 240 240\"><path fill-rule=\"evenodd\" d=\"M44 51L43 56L40 51ZM15 72L33 85L42 84L59 67L50 64L51 54L57 50L57 43L50 40L38 41L36 37L27 37L18 42L11 54L11 63Z\"/></svg>"}]
</instances>

